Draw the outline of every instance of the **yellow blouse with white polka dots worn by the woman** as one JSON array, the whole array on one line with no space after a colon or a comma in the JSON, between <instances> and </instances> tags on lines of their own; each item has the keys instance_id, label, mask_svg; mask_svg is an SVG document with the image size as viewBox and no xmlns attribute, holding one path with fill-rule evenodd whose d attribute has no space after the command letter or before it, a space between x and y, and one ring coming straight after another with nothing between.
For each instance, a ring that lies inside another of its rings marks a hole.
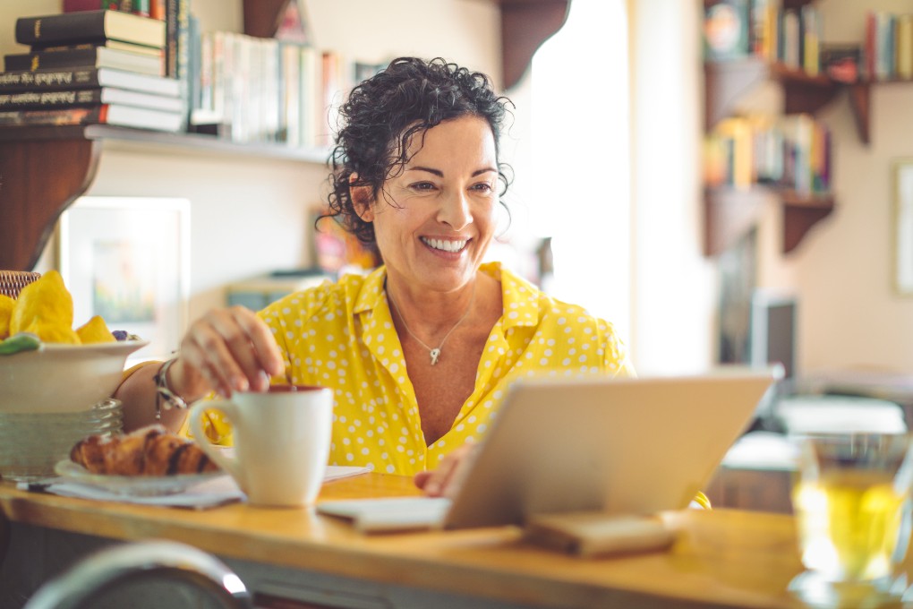
<instances>
[{"instance_id":1,"label":"yellow blouse with white polka dots worn by the woman","mask_svg":"<svg viewBox=\"0 0 913 609\"><path fill-rule=\"evenodd\" d=\"M485 436L510 383L521 376L633 372L611 324L549 298L498 263L481 270L500 281L504 314L488 336L475 391L431 446L383 290L383 267L300 291L259 313L276 335L289 383L319 384L335 394L331 465L401 475L433 469L456 446Z\"/></svg>"}]
</instances>

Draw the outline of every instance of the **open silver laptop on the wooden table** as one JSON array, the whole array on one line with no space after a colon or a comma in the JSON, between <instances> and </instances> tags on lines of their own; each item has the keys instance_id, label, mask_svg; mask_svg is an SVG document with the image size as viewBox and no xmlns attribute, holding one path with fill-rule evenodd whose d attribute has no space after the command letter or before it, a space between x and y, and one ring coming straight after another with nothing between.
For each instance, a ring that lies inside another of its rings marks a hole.
<instances>
[{"instance_id":1,"label":"open silver laptop on the wooden table","mask_svg":"<svg viewBox=\"0 0 913 609\"><path fill-rule=\"evenodd\" d=\"M706 488L777 374L732 367L691 376L519 380L453 499L347 499L320 502L317 510L373 532L683 509Z\"/></svg>"}]
</instances>

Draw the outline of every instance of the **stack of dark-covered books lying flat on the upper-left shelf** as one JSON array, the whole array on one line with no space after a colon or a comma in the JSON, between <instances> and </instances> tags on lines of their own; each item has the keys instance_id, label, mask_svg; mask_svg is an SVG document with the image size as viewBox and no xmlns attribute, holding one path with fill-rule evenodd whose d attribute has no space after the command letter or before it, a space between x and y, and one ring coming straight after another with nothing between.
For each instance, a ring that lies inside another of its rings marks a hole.
<instances>
[{"instance_id":1,"label":"stack of dark-covered books lying flat on the upper-left shelf","mask_svg":"<svg viewBox=\"0 0 913 609\"><path fill-rule=\"evenodd\" d=\"M0 127L106 123L184 128L177 79L165 76L165 22L97 10L20 17L0 72Z\"/></svg>"}]
</instances>

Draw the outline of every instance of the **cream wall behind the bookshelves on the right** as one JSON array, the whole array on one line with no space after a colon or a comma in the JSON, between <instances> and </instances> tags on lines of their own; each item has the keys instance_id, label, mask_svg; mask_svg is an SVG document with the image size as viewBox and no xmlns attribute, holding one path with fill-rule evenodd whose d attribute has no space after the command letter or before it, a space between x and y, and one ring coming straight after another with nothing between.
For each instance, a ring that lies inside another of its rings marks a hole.
<instances>
[{"instance_id":1,"label":"cream wall behind the bookshelves on the right","mask_svg":"<svg viewBox=\"0 0 913 609\"><path fill-rule=\"evenodd\" d=\"M822 2L824 39L860 42L867 10L913 13L911 0ZM819 118L832 130L836 209L792 254L779 254L779 210L765 216L763 285L799 296L799 364L913 373L913 297L893 289L890 166L913 157L913 83L872 89L871 143L860 142L845 96Z\"/></svg>"}]
</instances>

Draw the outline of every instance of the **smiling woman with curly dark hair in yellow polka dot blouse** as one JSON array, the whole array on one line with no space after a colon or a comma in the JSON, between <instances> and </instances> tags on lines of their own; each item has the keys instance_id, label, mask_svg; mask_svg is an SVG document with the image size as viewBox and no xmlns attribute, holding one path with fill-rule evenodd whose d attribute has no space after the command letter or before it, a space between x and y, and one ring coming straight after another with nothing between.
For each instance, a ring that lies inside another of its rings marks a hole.
<instances>
[{"instance_id":1,"label":"smiling woman with curly dark hair in yellow polka dot blouse","mask_svg":"<svg viewBox=\"0 0 913 609\"><path fill-rule=\"evenodd\" d=\"M418 474L436 494L513 380L630 373L610 324L483 264L508 185L498 162L507 103L486 76L442 59L395 59L353 89L331 158L331 214L383 266L258 314L210 312L176 359L121 385L129 423L152 416L156 385L181 404L262 391L271 377L321 384L336 394L331 464ZM179 425L183 414L162 419ZM422 473L442 462L438 476Z\"/></svg>"}]
</instances>

